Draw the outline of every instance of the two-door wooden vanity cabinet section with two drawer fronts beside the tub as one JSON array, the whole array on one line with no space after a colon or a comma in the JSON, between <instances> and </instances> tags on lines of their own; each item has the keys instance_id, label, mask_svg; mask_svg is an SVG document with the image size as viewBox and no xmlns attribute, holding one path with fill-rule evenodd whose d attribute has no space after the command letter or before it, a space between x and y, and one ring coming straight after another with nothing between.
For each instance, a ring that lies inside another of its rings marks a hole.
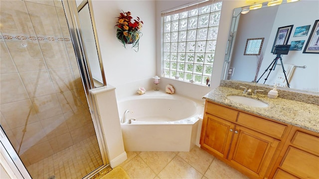
<instances>
[{"instance_id":1,"label":"two-door wooden vanity cabinet section with two drawer fronts beside the tub","mask_svg":"<svg viewBox=\"0 0 319 179\"><path fill-rule=\"evenodd\" d=\"M200 145L248 177L264 178L288 128L206 100Z\"/></svg>"}]
</instances>

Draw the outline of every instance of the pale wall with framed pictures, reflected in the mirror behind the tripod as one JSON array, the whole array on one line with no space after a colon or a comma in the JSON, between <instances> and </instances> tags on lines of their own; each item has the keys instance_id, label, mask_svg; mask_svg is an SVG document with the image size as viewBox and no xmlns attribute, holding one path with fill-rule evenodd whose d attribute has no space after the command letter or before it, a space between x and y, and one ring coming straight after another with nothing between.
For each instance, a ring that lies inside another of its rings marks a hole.
<instances>
[{"instance_id":1,"label":"pale wall with framed pictures, reflected in the mirror behind the tripod","mask_svg":"<svg viewBox=\"0 0 319 179\"><path fill-rule=\"evenodd\" d=\"M298 13L301 7L305 10L302 10L302 13ZM265 54L259 74L261 75L261 73L263 73L264 71L263 69L266 69L271 61L276 57L274 54L270 53L270 51L273 46L278 27L294 25L288 44L291 44L291 41L298 40L305 40L305 43L302 50L289 51L288 55L283 55L283 63L298 66L306 65L307 68L296 68L295 74L293 75L293 78L290 82L290 88L319 91L319 55L303 53L311 30L314 26L315 20L317 19L319 19L318 0L301 0L279 6L277 16L274 21L274 26L270 34L270 39L273 40L269 40L267 44L267 53ZM308 35L293 37L296 27L305 25L311 25ZM278 70L282 71L281 66L276 67L275 71L271 72L271 75L268 78L267 82L272 81Z\"/></svg>"}]
</instances>

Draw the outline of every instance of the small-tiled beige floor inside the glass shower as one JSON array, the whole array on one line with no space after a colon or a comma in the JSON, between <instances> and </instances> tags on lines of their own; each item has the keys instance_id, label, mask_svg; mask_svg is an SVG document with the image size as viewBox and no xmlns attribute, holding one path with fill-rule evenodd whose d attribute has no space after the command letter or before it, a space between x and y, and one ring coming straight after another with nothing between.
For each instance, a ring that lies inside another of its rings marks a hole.
<instances>
[{"instance_id":1,"label":"small-tiled beige floor inside the glass shower","mask_svg":"<svg viewBox=\"0 0 319 179\"><path fill-rule=\"evenodd\" d=\"M26 169L32 179L82 179L101 165L98 141L92 136Z\"/></svg>"}]
</instances>

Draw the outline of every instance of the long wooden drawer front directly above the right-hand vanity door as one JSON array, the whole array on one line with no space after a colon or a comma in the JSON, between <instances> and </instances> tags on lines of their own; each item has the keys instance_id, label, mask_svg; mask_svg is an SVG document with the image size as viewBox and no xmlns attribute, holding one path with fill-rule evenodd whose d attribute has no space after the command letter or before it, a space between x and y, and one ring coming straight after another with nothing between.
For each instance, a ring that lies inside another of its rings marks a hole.
<instances>
[{"instance_id":1,"label":"long wooden drawer front directly above the right-hand vanity door","mask_svg":"<svg viewBox=\"0 0 319 179\"><path fill-rule=\"evenodd\" d=\"M282 138L287 128L286 125L242 112L239 112L237 123L275 138Z\"/></svg>"}]
</instances>

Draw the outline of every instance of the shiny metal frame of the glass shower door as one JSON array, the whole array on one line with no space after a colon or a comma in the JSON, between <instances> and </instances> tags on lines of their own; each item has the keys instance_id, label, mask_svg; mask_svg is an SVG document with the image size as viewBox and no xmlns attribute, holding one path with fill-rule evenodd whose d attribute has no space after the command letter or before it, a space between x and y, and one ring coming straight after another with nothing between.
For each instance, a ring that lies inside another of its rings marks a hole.
<instances>
[{"instance_id":1,"label":"shiny metal frame of the glass shower door","mask_svg":"<svg viewBox=\"0 0 319 179\"><path fill-rule=\"evenodd\" d=\"M89 8L91 8L92 7L91 1L87 0L87 3L89 5ZM83 43L84 43L83 39L84 38L80 32L81 25L80 25L80 21L79 21L78 8L77 8L75 0L62 0L62 4L63 4L66 20L68 23L68 27L69 27L69 31L70 31L70 35L71 35L71 39L72 39L72 43L73 43L73 48L75 51L75 56L77 58L78 67L80 70L80 75L81 75L82 83L84 86L85 95L86 95L87 100L88 100L88 105L89 105L90 113L92 116L92 121L94 124L94 129L96 132L96 137L98 140L98 144L100 147L100 152L101 152L102 160L103 160L103 165L98 167L94 171L92 171L90 174L88 174L84 178L84 179L86 179L86 178L92 177L94 174L96 174L96 171L99 171L105 167L108 167L110 165L110 161L109 161L109 154L108 154L108 150L107 150L107 146L106 146L106 141L103 137L101 120L100 120L99 115L97 113L97 111L98 111L97 105L89 93L90 89L94 89L94 81L93 81L93 78L91 76L89 63L86 61L87 55L86 55L86 50L83 46ZM92 17L94 17L92 9L90 9L90 14L91 14L92 27L93 27L93 31L94 31L95 41L96 41L96 45L97 45L97 53L98 53L98 56L100 59L101 73L102 73L102 78L103 78L103 82L104 82L103 85L106 86L106 80L105 80L105 75L104 75L104 70L103 70L103 64L101 61L99 43L97 40L95 21L94 21L94 18L92 18Z\"/></svg>"}]
</instances>

